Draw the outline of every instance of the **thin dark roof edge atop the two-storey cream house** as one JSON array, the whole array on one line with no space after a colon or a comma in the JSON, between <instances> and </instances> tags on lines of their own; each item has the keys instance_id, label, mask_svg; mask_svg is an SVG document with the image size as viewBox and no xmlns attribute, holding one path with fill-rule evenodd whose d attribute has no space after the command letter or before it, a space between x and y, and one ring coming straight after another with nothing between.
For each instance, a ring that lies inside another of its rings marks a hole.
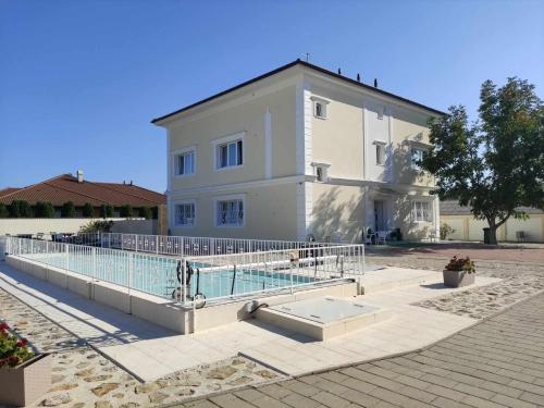
<instances>
[{"instance_id":1,"label":"thin dark roof edge atop the two-storey cream house","mask_svg":"<svg viewBox=\"0 0 544 408\"><path fill-rule=\"evenodd\" d=\"M252 84L252 83L256 83L256 82L258 82L258 81L261 81L261 79L268 78L269 76L275 75L275 74L277 74L277 73L282 72L282 71L288 70L289 67L295 66L295 65L306 66L306 67L308 67L308 69L314 70L314 71L318 71L318 72L320 72L320 73L322 73L322 74L325 74L325 75L332 76L332 77L334 77L334 78L337 78L337 79L342 79L342 81L344 81L344 82L347 82L347 83L349 83L349 84L351 84L351 85L357 85L357 86L359 86L359 87L361 87L361 88L364 88L364 89L368 89L368 90L371 90L371 91L373 91L373 92L378 92L378 94L381 94L381 95L385 95L385 96L387 96L387 97L391 97L391 98L394 98L394 99L400 100L400 101L403 101L403 102L406 102L406 103L412 104L412 106L418 107L418 108L425 109L425 110L428 110L428 111L431 111L431 112L436 113L436 114L440 114L440 115L444 115L444 114L446 114L445 112L440 111L440 110L437 110L437 109L430 108L430 107L426 107L426 106L424 106L424 104L421 104L421 103L415 102L415 101L412 101L412 100L410 100L410 99L406 99L406 98L399 97L398 95L387 92L387 91L385 91L385 90L383 90L383 89L380 89L380 88L376 88L376 87L373 87L373 86L370 86L370 85L366 85L366 84L360 83L360 82L358 82L358 81L355 81L355 79L348 78L348 77L346 77L346 76L343 76L343 75L336 74L336 73L334 73L334 72L332 72L332 71L325 70L325 69L323 69L323 67L321 67L321 66L310 64L309 62L301 61L301 60L296 60L296 61L289 62L289 63L288 63L288 64L286 64L286 65L280 66L279 69L275 69L275 70L273 70L273 71L270 71L270 72L265 73L265 74L262 74L262 75L260 75L260 76L257 76L257 77L255 77L255 78L252 78L252 79L246 81L245 83L242 83L242 84L236 85L236 86L234 86L234 87L232 87L232 88L228 88L228 89L226 89L226 90L223 90L223 91L221 91L221 92L219 92L219 94L212 95L211 97L208 97L208 98L206 98L206 99L199 100L198 102L191 103L191 104L189 104L189 106L187 106L187 107L185 107L185 108L178 109L178 110L176 110L176 111L174 111L174 112L171 112L171 113L169 113L169 114L165 114L165 115L163 115L163 116L156 118L156 119L153 119L153 120L151 121L151 123L158 123L158 122L160 122L160 121L162 121L162 120L164 120L164 119L168 119L168 118L170 118L170 116L173 116L173 115L175 115L175 114L177 114L177 113L181 113L181 112L187 111L187 110L189 110L189 109L193 109L193 108L195 108L195 107L198 107L199 104L202 104L202 103L209 102L209 101L211 101L211 100L213 100L213 99L217 99L217 98L219 98L219 97L222 97L222 96L224 96L224 95L226 95L226 94L233 92L233 91L235 91L236 89L243 88L243 87L245 87L245 86L247 86L247 85L250 85L250 84Z\"/></svg>"}]
</instances>

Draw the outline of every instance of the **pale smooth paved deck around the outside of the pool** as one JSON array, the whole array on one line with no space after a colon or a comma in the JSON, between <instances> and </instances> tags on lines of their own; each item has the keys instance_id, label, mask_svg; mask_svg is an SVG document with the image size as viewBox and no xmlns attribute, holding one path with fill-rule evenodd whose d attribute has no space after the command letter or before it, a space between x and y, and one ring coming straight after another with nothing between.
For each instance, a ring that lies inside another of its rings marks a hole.
<instances>
[{"instance_id":1,"label":"pale smooth paved deck around the outside of the pool","mask_svg":"<svg viewBox=\"0 0 544 408\"><path fill-rule=\"evenodd\" d=\"M477 279L484 286L498 279ZM0 287L83 338L143 381L200 363L244 355L288 375L313 372L413 350L477 322L475 319L411 306L461 289L445 288L436 272L387 268L369 272L367 295L358 301L387 308L394 316L375 325L326 342L240 321L190 335L84 299L0 262Z\"/></svg>"}]
</instances>

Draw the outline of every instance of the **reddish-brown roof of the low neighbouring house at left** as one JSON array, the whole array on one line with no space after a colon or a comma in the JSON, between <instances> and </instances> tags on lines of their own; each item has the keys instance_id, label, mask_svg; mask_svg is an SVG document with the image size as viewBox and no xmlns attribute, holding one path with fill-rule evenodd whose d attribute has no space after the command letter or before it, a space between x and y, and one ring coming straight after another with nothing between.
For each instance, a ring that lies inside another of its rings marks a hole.
<instances>
[{"instance_id":1,"label":"reddish-brown roof of the low neighbouring house at left","mask_svg":"<svg viewBox=\"0 0 544 408\"><path fill-rule=\"evenodd\" d=\"M53 206L62 206L66 201L72 201L76 207L86 202L90 202L94 207L104 203L115 207L123 205L153 207L166 202L163 194L136 185L89 181L78 183L72 174L62 174L24 188L0 190L0 202L9 205L13 200L25 200L30 205L44 201L51 202Z\"/></svg>"}]
</instances>

